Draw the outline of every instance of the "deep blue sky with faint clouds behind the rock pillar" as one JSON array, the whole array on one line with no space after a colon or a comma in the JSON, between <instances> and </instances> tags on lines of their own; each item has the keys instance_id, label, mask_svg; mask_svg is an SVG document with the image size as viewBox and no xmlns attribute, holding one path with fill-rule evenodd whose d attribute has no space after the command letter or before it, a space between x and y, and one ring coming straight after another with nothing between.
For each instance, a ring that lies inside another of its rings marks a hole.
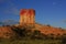
<instances>
[{"instance_id":1,"label":"deep blue sky with faint clouds behind the rock pillar","mask_svg":"<svg viewBox=\"0 0 66 44\"><path fill-rule=\"evenodd\" d=\"M66 29L66 0L0 0L0 24L19 21L20 9L34 9L41 24Z\"/></svg>"}]
</instances>

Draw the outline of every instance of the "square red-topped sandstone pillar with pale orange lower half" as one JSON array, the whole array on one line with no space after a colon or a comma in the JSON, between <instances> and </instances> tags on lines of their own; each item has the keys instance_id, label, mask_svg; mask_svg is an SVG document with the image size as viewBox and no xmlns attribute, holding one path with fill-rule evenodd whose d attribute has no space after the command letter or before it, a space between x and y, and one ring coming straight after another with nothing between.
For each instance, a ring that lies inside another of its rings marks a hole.
<instances>
[{"instance_id":1,"label":"square red-topped sandstone pillar with pale orange lower half","mask_svg":"<svg viewBox=\"0 0 66 44\"><path fill-rule=\"evenodd\" d=\"M22 24L34 24L35 10L22 9L20 11L20 25Z\"/></svg>"}]
</instances>

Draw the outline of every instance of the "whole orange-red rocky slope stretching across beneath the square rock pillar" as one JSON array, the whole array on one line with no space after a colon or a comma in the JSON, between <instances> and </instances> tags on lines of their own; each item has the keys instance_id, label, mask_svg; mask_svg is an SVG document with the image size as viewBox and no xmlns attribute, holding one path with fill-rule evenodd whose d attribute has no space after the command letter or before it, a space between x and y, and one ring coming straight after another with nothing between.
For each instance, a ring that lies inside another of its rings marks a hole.
<instances>
[{"instance_id":1,"label":"whole orange-red rocky slope stretching across beneath the square rock pillar","mask_svg":"<svg viewBox=\"0 0 66 44\"><path fill-rule=\"evenodd\" d=\"M20 26L20 25L19 26L0 26L0 37L11 38L18 35L16 32L21 31L23 28L25 28L26 30L32 30L32 31L38 30L41 31L41 33L45 35L51 35L51 34L53 34L54 36L66 35L66 30L62 28L54 28L50 25L42 25L42 24L35 23L35 26L31 26L31 25L30 26L25 26L25 25L24 26Z\"/></svg>"}]
</instances>

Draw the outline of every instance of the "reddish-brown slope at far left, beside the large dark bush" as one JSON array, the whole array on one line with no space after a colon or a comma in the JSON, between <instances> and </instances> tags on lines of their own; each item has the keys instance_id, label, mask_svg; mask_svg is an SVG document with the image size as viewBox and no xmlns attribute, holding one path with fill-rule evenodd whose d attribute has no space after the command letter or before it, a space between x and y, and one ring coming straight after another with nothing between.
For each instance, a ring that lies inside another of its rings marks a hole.
<instances>
[{"instance_id":1,"label":"reddish-brown slope at far left, beside the large dark bush","mask_svg":"<svg viewBox=\"0 0 66 44\"><path fill-rule=\"evenodd\" d=\"M14 35L15 33L12 31L10 26L0 26L0 37L10 38Z\"/></svg>"}]
</instances>

